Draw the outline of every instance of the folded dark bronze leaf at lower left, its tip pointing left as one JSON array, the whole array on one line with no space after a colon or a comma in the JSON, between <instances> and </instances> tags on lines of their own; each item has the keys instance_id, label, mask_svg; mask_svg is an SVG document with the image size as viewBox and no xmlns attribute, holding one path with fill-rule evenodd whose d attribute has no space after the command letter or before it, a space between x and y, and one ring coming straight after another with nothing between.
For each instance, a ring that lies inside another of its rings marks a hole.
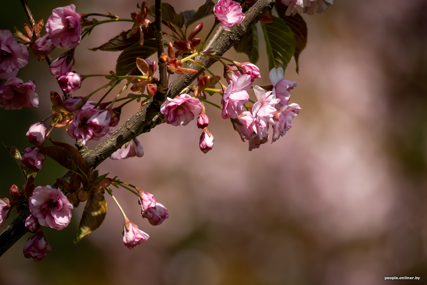
<instances>
[{"instance_id":1,"label":"folded dark bronze leaf at lower left, its tip pointing left","mask_svg":"<svg viewBox=\"0 0 427 285\"><path fill-rule=\"evenodd\" d=\"M52 142L52 144L54 144L53 146L36 147L63 167L82 176L85 181L89 183L91 173L89 172L89 168L86 165L85 160L79 153L79 150L64 142L54 141L51 139L50 141Z\"/></svg>"}]
</instances>

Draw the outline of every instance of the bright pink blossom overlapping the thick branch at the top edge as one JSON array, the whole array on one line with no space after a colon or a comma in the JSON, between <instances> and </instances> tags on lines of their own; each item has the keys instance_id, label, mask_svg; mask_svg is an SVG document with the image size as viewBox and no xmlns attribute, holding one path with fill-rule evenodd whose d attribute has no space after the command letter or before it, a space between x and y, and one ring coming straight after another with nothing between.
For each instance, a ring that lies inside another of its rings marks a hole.
<instances>
[{"instance_id":1,"label":"bright pink blossom overlapping the thick branch at the top edge","mask_svg":"<svg viewBox=\"0 0 427 285\"><path fill-rule=\"evenodd\" d=\"M231 26L242 23L245 19L240 4L231 0L219 0L218 4L213 7L213 14L221 21L221 27L226 31L229 31Z\"/></svg>"}]
</instances>

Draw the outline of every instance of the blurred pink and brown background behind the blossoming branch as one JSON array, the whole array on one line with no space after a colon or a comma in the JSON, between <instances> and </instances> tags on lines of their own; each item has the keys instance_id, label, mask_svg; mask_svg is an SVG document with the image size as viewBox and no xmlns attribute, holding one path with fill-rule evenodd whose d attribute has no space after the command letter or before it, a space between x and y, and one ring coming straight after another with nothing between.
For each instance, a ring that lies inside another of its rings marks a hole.
<instances>
[{"instance_id":1,"label":"blurred pink and brown background behind the blossoming branch","mask_svg":"<svg viewBox=\"0 0 427 285\"><path fill-rule=\"evenodd\" d=\"M131 0L73 3L82 13L108 9L123 18L137 10ZM202 1L170 3L183 11ZM37 21L70 2L28 4ZM0 15L0 29L28 23L18 0L4 1ZM149 191L167 207L169 218L151 226L140 216L136 197L113 188L127 216L149 233L149 241L131 251L123 246L122 216L107 197L104 223L79 244L72 241L84 205L73 210L67 228L44 229L52 251L40 262L23 257L31 236L27 233L0 258L0 283L427 284L427 2L336 0L326 13L304 18L309 40L300 73L295 73L293 60L285 73L298 82L291 102L302 110L283 138L249 152L212 106L207 113L215 146L207 154L199 150L196 121L157 126L138 137L145 150L142 158L107 159L99 166L100 173ZM202 39L213 17L203 23ZM130 25L95 27L76 49L74 70L114 70L119 53L87 47ZM260 27L258 31L262 78L255 84L268 85L265 44ZM52 57L61 52L55 50ZM247 61L233 50L226 56ZM222 75L220 64L212 70ZM23 151L30 146L25 137L29 125L49 114L49 92L60 89L47 64L32 56L18 77L35 80L40 105L0 110L1 141ZM73 95L85 96L105 80L88 78ZM212 98L219 100L218 94ZM121 122L138 106L127 105ZM53 137L73 144L64 129ZM96 144L91 141L89 147ZM9 186L21 185L23 179L5 149L0 159L0 195L8 196ZM63 173L64 168L47 159L36 185L52 185ZM2 229L14 217L11 213ZM384 281L385 276L421 279Z\"/></svg>"}]
</instances>

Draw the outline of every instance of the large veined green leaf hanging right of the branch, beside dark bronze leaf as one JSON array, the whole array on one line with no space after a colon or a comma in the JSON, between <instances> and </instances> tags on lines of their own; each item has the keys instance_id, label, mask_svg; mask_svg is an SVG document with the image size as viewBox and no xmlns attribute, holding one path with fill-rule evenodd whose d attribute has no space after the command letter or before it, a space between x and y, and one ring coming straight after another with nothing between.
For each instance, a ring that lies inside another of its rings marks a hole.
<instances>
[{"instance_id":1,"label":"large veined green leaf hanging right of the branch, beside dark bronze leaf","mask_svg":"<svg viewBox=\"0 0 427 285\"><path fill-rule=\"evenodd\" d=\"M281 67L286 70L295 53L295 37L290 27L281 18L275 16L273 18L272 23L261 23L266 41L269 69Z\"/></svg>"}]
</instances>

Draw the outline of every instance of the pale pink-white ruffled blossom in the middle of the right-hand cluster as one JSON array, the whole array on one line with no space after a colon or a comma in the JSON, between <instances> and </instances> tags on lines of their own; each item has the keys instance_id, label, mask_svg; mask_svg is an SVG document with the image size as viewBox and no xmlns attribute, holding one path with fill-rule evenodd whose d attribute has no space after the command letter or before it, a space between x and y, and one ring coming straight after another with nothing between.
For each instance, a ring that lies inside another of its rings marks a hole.
<instances>
[{"instance_id":1,"label":"pale pink-white ruffled blossom in the middle of the right-hand cluster","mask_svg":"<svg viewBox=\"0 0 427 285\"><path fill-rule=\"evenodd\" d=\"M275 125L272 119L276 112L274 106L280 102L280 99L276 99L275 95L272 95L272 91L266 92L257 85L254 86L254 91L258 101L252 107L252 116L254 117L252 128L258 138L262 140L267 135L268 123Z\"/></svg>"}]
</instances>

